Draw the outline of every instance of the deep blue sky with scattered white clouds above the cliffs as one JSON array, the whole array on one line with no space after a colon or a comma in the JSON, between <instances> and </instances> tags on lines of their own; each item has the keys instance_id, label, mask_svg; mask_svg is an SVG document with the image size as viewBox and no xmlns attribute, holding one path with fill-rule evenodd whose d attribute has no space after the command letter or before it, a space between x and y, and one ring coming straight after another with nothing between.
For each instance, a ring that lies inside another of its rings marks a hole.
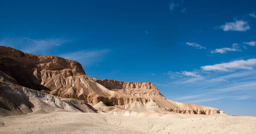
<instances>
[{"instance_id":1,"label":"deep blue sky with scattered white clouds above the cliffs","mask_svg":"<svg viewBox=\"0 0 256 134\"><path fill-rule=\"evenodd\" d=\"M79 61L99 79L256 116L253 0L1 0L0 45Z\"/></svg>"}]
</instances>

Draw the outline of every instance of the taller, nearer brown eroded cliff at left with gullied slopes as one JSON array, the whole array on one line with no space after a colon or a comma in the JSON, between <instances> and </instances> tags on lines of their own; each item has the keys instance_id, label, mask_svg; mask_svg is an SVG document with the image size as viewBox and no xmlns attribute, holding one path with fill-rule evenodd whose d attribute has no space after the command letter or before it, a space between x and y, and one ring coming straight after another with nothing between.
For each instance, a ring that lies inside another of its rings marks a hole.
<instances>
[{"instance_id":1,"label":"taller, nearer brown eroded cliff at left with gullied slopes","mask_svg":"<svg viewBox=\"0 0 256 134\"><path fill-rule=\"evenodd\" d=\"M35 56L11 47L0 46L0 70L30 89L63 98L76 98L95 105L124 105L146 98L110 91L88 77L81 64L56 56Z\"/></svg>"}]
</instances>

